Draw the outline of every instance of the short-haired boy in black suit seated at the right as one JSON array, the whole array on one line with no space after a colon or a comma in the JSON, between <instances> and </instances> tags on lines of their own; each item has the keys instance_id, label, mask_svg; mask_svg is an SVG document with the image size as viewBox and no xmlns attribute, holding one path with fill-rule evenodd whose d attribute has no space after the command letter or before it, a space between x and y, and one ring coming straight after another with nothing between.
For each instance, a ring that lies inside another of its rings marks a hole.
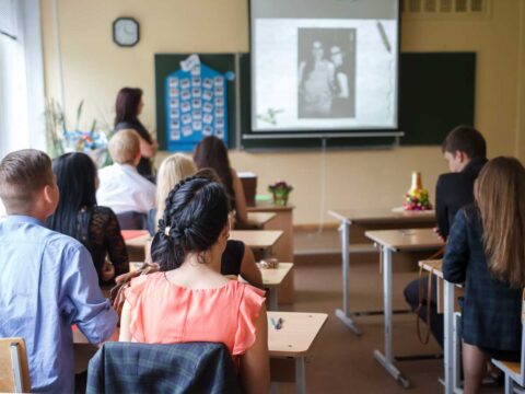
<instances>
[{"instance_id":1,"label":"short-haired boy in black suit seated at the right","mask_svg":"<svg viewBox=\"0 0 525 394\"><path fill-rule=\"evenodd\" d=\"M443 155L450 173L440 175L435 185L435 232L446 241L454 217L459 208L474 202L474 182L487 163L487 144L483 136L472 127L458 126L443 141ZM443 347L443 315L438 314L435 278L430 303L430 329ZM427 321L427 279L417 279L405 288L405 299L413 311L419 305L419 288L423 287L419 318Z\"/></svg>"}]
</instances>

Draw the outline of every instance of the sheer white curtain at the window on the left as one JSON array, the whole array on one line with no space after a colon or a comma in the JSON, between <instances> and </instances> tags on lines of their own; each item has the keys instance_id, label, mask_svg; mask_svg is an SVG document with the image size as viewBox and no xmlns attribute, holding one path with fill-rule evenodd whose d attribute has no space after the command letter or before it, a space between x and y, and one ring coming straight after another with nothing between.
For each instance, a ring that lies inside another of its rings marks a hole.
<instances>
[{"instance_id":1,"label":"sheer white curtain at the window on the left","mask_svg":"<svg viewBox=\"0 0 525 394\"><path fill-rule=\"evenodd\" d=\"M38 0L0 0L0 158L45 149Z\"/></svg>"}]
</instances>

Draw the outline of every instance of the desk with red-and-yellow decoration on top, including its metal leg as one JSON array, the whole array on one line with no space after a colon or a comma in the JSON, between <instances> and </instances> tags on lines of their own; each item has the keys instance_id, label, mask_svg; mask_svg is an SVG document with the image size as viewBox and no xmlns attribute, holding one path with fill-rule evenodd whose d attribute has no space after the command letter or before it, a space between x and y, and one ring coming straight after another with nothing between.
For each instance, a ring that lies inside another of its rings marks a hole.
<instances>
[{"instance_id":1,"label":"desk with red-and-yellow decoration on top, including its metal leg","mask_svg":"<svg viewBox=\"0 0 525 394\"><path fill-rule=\"evenodd\" d=\"M361 335L361 329L355 325L352 317L360 312L350 312L349 308L349 269L350 269L350 227L362 225L371 229L383 227L434 227L434 211L404 211L402 209L340 209L329 210L328 215L339 220L341 236L341 263L342 263L342 309L336 310L336 316L348 326L355 335Z\"/></svg>"}]
</instances>

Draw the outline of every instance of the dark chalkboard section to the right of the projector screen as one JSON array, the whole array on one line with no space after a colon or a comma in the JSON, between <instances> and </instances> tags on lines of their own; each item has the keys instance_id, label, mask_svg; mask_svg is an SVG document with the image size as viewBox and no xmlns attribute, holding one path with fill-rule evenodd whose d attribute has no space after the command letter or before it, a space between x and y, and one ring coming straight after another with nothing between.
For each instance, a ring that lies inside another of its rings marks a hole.
<instances>
[{"instance_id":1,"label":"dark chalkboard section to the right of the projector screen","mask_svg":"<svg viewBox=\"0 0 525 394\"><path fill-rule=\"evenodd\" d=\"M441 144L457 125L474 125L475 53L402 54L401 144Z\"/></svg>"}]
</instances>

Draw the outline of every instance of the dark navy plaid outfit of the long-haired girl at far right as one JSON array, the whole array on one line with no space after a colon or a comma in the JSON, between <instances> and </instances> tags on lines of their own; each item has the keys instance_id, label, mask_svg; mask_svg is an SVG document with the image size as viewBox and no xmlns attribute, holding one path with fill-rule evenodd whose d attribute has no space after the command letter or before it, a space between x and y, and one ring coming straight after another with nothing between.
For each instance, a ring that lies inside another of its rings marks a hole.
<instances>
[{"instance_id":1,"label":"dark navy plaid outfit of the long-haired girl at far right","mask_svg":"<svg viewBox=\"0 0 525 394\"><path fill-rule=\"evenodd\" d=\"M443 257L445 280L465 282L463 339L493 350L520 352L522 345L522 289L489 271L478 209L460 209L451 228Z\"/></svg>"}]
</instances>

